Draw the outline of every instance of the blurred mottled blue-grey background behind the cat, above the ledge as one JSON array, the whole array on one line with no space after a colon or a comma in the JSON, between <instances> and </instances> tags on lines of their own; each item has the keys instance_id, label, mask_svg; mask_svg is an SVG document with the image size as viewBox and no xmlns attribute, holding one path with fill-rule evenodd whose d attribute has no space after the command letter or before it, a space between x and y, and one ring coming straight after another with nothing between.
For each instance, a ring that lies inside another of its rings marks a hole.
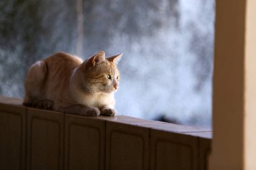
<instances>
[{"instance_id":1,"label":"blurred mottled blue-grey background behind the cat, above the ledge","mask_svg":"<svg viewBox=\"0 0 256 170\"><path fill-rule=\"evenodd\" d=\"M121 115L212 126L214 0L1 0L0 95L58 51L123 53Z\"/></svg>"}]
</instances>

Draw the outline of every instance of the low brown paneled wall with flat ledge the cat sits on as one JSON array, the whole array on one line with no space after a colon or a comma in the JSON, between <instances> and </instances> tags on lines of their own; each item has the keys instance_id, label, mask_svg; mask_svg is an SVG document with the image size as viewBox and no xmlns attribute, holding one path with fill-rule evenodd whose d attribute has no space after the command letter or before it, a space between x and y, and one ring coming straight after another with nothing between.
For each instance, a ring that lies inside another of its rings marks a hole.
<instances>
[{"instance_id":1,"label":"low brown paneled wall with flat ledge the cat sits on","mask_svg":"<svg viewBox=\"0 0 256 170\"><path fill-rule=\"evenodd\" d=\"M207 169L210 130L75 116L21 102L0 97L0 169Z\"/></svg>"}]
</instances>

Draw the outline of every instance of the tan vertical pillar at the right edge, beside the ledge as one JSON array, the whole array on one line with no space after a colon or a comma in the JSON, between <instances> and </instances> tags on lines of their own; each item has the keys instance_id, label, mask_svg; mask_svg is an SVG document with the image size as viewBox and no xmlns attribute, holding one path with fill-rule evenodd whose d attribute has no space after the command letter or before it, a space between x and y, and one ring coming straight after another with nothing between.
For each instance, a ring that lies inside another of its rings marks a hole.
<instances>
[{"instance_id":1,"label":"tan vertical pillar at the right edge, beside the ledge","mask_svg":"<svg viewBox=\"0 0 256 170\"><path fill-rule=\"evenodd\" d=\"M216 1L210 170L256 169L255 15L254 0Z\"/></svg>"}]
</instances>

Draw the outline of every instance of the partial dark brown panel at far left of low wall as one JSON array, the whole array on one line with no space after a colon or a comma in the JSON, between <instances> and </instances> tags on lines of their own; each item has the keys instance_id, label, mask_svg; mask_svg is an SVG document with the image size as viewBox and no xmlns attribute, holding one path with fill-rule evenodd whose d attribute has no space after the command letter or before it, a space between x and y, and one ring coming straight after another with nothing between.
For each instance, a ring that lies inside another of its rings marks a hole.
<instances>
[{"instance_id":1,"label":"partial dark brown panel at far left of low wall","mask_svg":"<svg viewBox=\"0 0 256 170\"><path fill-rule=\"evenodd\" d=\"M0 169L25 169L26 108L0 103Z\"/></svg>"}]
</instances>

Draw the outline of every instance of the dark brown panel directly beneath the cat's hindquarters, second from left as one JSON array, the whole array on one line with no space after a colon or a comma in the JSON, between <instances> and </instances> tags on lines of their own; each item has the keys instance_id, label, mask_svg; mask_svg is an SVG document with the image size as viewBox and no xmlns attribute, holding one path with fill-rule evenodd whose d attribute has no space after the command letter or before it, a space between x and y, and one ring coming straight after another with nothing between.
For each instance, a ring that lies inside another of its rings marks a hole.
<instances>
[{"instance_id":1,"label":"dark brown panel directly beneath the cat's hindquarters, second from left","mask_svg":"<svg viewBox=\"0 0 256 170\"><path fill-rule=\"evenodd\" d=\"M63 169L64 117L28 108L27 169Z\"/></svg>"}]
</instances>

